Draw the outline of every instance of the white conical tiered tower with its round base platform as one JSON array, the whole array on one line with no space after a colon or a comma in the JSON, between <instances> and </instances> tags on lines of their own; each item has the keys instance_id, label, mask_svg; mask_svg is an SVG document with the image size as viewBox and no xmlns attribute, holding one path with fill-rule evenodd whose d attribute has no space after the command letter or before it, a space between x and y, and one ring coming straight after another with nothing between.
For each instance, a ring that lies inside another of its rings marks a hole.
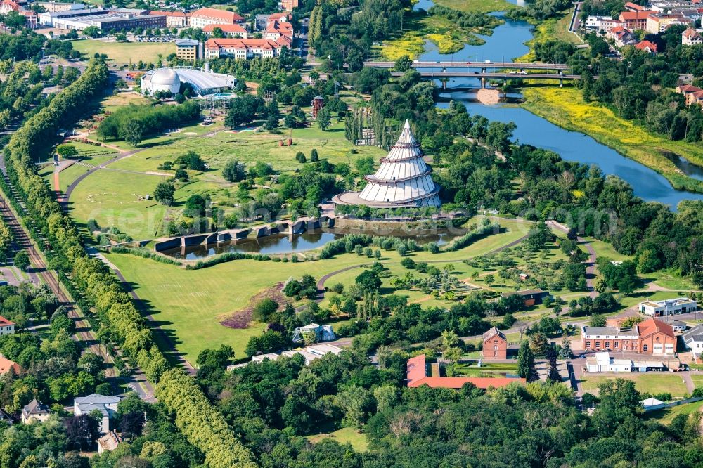
<instances>
[{"instance_id":1,"label":"white conical tiered tower with its round base platform","mask_svg":"<svg viewBox=\"0 0 703 468\"><path fill-rule=\"evenodd\" d=\"M423 159L420 143L406 120L400 137L373 176L365 176L361 192L344 192L335 204L366 205L371 208L439 207L439 186L432 181L432 169Z\"/></svg>"}]
</instances>

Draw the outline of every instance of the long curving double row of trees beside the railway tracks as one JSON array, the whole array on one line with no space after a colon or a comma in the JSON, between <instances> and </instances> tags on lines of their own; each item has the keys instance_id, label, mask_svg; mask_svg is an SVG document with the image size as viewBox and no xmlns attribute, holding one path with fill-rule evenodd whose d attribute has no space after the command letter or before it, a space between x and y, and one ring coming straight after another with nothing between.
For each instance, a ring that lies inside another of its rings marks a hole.
<instances>
[{"instance_id":1,"label":"long curving double row of trees beside the railway tracks","mask_svg":"<svg viewBox=\"0 0 703 468\"><path fill-rule=\"evenodd\" d=\"M164 356L129 295L105 264L86 254L72 220L63 213L49 188L36 174L34 155L45 155L46 142L53 140L56 130L72 123L83 106L99 96L107 83L107 65L102 60L91 60L77 82L59 93L46 108L15 132L6 148L8 173L25 199L27 212L53 247L52 266L60 273L69 273L85 299L95 307L101 323L98 336L119 344L151 382L157 382L157 392L181 396L162 398L161 401L176 413L179 429L205 453L212 467L236 466L249 459L248 450L240 445L192 379L182 370L167 370ZM162 376L165 376L163 382ZM202 415L207 415L207 420ZM202 438L202 434L207 434L207 438Z\"/></svg>"}]
</instances>

